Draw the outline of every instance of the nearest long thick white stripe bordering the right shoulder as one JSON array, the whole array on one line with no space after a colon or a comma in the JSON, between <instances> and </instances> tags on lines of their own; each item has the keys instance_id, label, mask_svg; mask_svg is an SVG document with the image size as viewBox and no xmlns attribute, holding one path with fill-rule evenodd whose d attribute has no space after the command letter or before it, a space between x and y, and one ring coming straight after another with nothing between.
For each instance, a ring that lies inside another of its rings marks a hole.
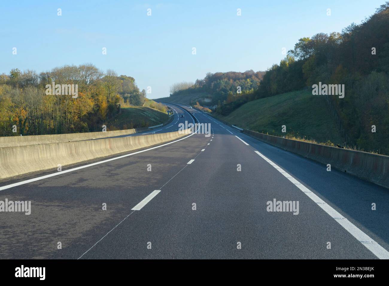
<instances>
[{"instance_id":1,"label":"nearest long thick white stripe bordering the right shoulder","mask_svg":"<svg viewBox=\"0 0 389 286\"><path fill-rule=\"evenodd\" d=\"M263 156L258 151L255 151L259 156L261 156L265 161L270 165L276 168L282 175L284 175L289 181L291 181L297 188L299 188L305 195L307 195L311 200L313 200L319 207L321 207L331 218L335 219L345 230L347 230L353 237L355 237L361 244L363 244L367 249L369 249L375 256L379 259L389 259L389 252L382 246L380 246L375 240L369 237L362 230L353 225L347 218L342 216L339 212L335 211L330 205L328 205L324 200L315 195L310 189L305 187L299 181L294 179L287 172L282 170L279 166L273 163L271 160Z\"/></svg>"}]
</instances>

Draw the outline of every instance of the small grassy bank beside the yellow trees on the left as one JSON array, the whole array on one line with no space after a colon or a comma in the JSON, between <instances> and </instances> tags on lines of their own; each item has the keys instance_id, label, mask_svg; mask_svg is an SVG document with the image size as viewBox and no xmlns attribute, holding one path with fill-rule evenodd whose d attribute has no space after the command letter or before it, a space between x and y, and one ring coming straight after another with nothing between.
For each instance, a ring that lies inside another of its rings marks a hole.
<instances>
[{"instance_id":1,"label":"small grassy bank beside the yellow trees on the left","mask_svg":"<svg viewBox=\"0 0 389 286\"><path fill-rule=\"evenodd\" d=\"M168 121L169 116L156 109L143 106L122 107L116 118L107 122L107 130L123 130L158 125Z\"/></svg>"}]
</instances>

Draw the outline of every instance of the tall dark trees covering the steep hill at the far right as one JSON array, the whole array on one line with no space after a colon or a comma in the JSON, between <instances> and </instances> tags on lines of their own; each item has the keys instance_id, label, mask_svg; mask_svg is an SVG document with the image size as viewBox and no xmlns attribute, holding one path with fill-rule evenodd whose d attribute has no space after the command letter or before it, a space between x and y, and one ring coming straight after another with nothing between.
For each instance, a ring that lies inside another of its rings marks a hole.
<instances>
[{"instance_id":1,"label":"tall dark trees covering the steep hill at the far right","mask_svg":"<svg viewBox=\"0 0 389 286\"><path fill-rule=\"evenodd\" d=\"M330 99L347 143L389 154L388 27L386 2L361 25L352 23L342 33L301 38L279 65L266 72L254 98L312 90L319 82L344 84L345 97L332 95Z\"/></svg>"}]
</instances>

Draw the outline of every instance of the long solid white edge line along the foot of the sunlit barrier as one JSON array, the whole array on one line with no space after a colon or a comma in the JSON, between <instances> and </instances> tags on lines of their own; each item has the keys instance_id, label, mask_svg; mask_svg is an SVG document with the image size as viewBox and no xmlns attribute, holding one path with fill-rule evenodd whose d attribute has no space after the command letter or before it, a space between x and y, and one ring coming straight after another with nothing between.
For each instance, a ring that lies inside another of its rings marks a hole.
<instances>
[{"instance_id":1,"label":"long solid white edge line along the foot of the sunlit barrier","mask_svg":"<svg viewBox=\"0 0 389 286\"><path fill-rule=\"evenodd\" d=\"M196 118L196 116L195 116L195 118ZM197 118L196 118L196 119L197 119ZM193 119L193 122L195 122L195 119ZM179 141L181 141L181 140L184 140L184 139L186 139L186 138L188 138L188 137L191 137L192 135L195 135L195 134L198 132L199 129L200 129L200 126L199 126L199 128L198 128L195 132L193 132L192 134L190 134L190 135L188 135L188 136L186 136L186 137L184 137L184 138L181 138L181 139L172 141L172 142L168 142L168 143L165 143L165 144L162 144L162 145L159 145L159 146L151 147L151 148L149 148L149 149L145 149L145 150L142 150L142 151L137 151L137 152L134 152L134 153L122 155L122 156L119 156L119 157L115 157L115 158L111 158L111 159L107 159L107 160L103 160L103 161L98 161L98 162L91 163L91 164L88 164L88 165L84 165L84 166L80 166L80 167L76 167L76 168L71 168L71 169L68 169L68 170L63 170L63 171L60 171L60 172L56 172L56 173L53 173L53 174L49 174L49 175L44 175L44 176L36 177L36 178L33 178L33 179L29 179L29 180L17 182L17 183L14 183L14 184L5 185L5 186L0 187L0 191L2 191L2 190L4 190L4 189L13 188L13 187L16 187L16 186L28 184L28 183L30 183L30 182L39 181L39 180L46 179L46 178L49 178L49 177L54 177L54 176L57 176L57 175L65 174L65 173L72 172L72 171L75 171L75 170L80 170L80 169L83 169L83 168L88 168L88 167L91 167L91 166L99 165L99 164L106 163L106 162L109 162L109 161L121 159L121 158L128 157L128 156L131 156L131 155L143 153L143 152L150 151L150 150L153 150L153 149L157 149L157 148L159 148L159 147L163 147L163 146L166 146L166 145L170 145L170 144L173 144L173 143L175 143L175 142L179 142ZM79 163L81 163L81 162L79 162ZM46 171L47 171L47 170L46 170ZM44 170L42 170L42 172L44 172Z\"/></svg>"}]
</instances>

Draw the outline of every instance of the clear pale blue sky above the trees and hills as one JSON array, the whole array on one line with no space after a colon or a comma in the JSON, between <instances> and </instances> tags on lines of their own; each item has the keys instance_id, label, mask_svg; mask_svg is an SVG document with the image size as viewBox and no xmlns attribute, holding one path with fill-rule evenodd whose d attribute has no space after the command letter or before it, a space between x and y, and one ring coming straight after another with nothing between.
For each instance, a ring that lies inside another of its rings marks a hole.
<instances>
[{"instance_id":1,"label":"clear pale blue sky above the trees and hills","mask_svg":"<svg viewBox=\"0 0 389 286\"><path fill-rule=\"evenodd\" d=\"M282 47L289 50L315 33L341 32L384 2L2 1L0 74L93 63L134 77L140 89L151 86L149 98L167 97L174 82L207 72L266 70L284 58Z\"/></svg>"}]
</instances>

